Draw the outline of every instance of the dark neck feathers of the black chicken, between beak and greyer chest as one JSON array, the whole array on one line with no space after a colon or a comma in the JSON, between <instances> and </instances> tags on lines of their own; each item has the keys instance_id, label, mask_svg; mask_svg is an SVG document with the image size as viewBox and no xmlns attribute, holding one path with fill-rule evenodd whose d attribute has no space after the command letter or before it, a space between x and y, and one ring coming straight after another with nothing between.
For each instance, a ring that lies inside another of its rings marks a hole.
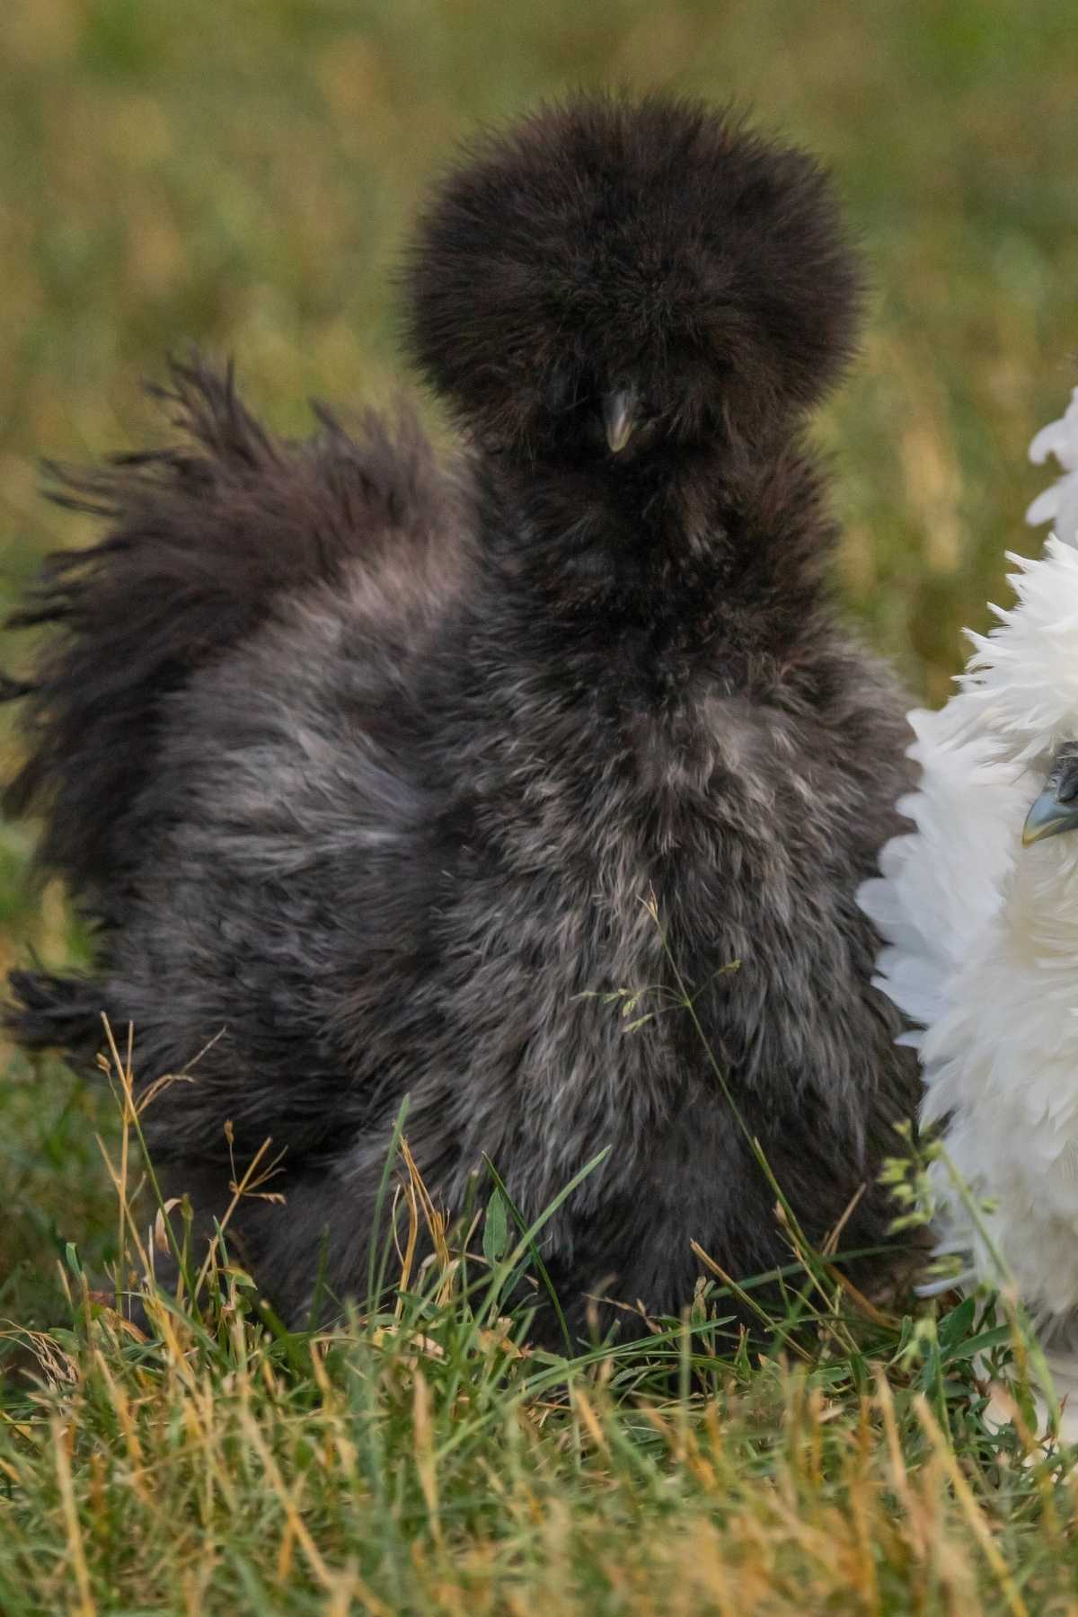
<instances>
[{"instance_id":1,"label":"dark neck feathers of the black chicken, between beak and greyer chest","mask_svg":"<svg viewBox=\"0 0 1078 1617\"><path fill-rule=\"evenodd\" d=\"M656 689L716 668L740 684L832 632L836 527L797 445L735 467L701 453L624 485L516 464L482 480L483 613L514 658L619 678L629 663Z\"/></svg>"}]
</instances>

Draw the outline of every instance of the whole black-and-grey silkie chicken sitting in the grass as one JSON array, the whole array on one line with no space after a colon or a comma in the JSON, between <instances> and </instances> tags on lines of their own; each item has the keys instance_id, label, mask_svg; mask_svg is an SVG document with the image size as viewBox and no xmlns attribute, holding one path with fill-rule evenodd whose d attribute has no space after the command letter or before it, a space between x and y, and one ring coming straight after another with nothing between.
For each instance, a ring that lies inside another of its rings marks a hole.
<instances>
[{"instance_id":1,"label":"whole black-and-grey silkie chicken sitting in the grass","mask_svg":"<svg viewBox=\"0 0 1078 1617\"><path fill-rule=\"evenodd\" d=\"M543 1235L575 1332L677 1311L692 1239L789 1260L716 1066L810 1235L863 1190L874 1247L916 1070L855 893L907 733L802 435L860 301L829 186L705 107L577 99L449 175L406 289L449 464L409 414L278 441L194 365L173 448L68 480L107 532L19 613L52 635L8 804L97 967L16 972L16 1035L92 1066L105 1011L142 1085L191 1067L145 1124L207 1214L228 1119L284 1148L288 1206L233 1227L289 1319L326 1231L365 1290L404 1095L451 1211L490 1158L535 1218L609 1146Z\"/></svg>"}]
</instances>

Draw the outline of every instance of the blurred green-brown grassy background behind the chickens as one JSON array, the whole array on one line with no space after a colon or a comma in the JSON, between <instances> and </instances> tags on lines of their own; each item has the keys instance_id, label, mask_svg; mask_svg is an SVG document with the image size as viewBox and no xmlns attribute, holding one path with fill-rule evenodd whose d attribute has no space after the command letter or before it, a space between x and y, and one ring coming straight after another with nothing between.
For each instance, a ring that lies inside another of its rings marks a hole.
<instances>
[{"instance_id":1,"label":"blurred green-brown grassy background behind the chickens","mask_svg":"<svg viewBox=\"0 0 1078 1617\"><path fill-rule=\"evenodd\" d=\"M2 0L0 608L79 537L39 501L39 458L141 441L139 378L170 348L234 353L286 430L312 393L385 395L425 178L477 118L575 84L737 95L837 170L876 283L823 424L844 585L942 700L1004 548L1039 543L1025 446L1076 370L1057 0ZM0 967L68 948L60 897L21 881L27 846L0 826ZM0 1087L0 1307L103 1219L97 1116L55 1067L15 1061Z\"/></svg>"}]
</instances>

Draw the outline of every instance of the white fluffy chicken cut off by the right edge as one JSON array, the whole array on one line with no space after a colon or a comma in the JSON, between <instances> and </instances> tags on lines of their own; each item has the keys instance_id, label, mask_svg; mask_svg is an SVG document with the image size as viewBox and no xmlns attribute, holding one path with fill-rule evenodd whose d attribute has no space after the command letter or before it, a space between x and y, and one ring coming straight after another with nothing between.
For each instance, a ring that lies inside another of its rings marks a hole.
<instances>
[{"instance_id":1,"label":"white fluffy chicken cut off by the right edge","mask_svg":"<svg viewBox=\"0 0 1078 1617\"><path fill-rule=\"evenodd\" d=\"M1002 1256L1078 1438L1078 388L1030 446L1049 454L1063 475L1026 521L1054 534L1009 556L1018 602L968 632L958 694L910 713L916 830L860 899L887 944L878 982L916 1025L923 1122L986 1203L936 1164L939 1250L966 1282L1000 1284Z\"/></svg>"}]
</instances>

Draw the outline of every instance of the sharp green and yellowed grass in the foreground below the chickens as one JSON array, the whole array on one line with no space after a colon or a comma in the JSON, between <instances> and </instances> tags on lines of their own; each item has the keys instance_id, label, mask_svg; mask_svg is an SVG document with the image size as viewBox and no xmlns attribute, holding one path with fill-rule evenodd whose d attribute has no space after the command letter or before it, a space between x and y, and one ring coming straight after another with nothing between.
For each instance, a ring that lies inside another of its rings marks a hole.
<instances>
[{"instance_id":1,"label":"sharp green and yellowed grass in the foreground below the chickens","mask_svg":"<svg viewBox=\"0 0 1078 1617\"><path fill-rule=\"evenodd\" d=\"M113 1058L115 1277L145 1331L68 1248L71 1324L8 1332L5 1614L1073 1609L1073 1459L1033 1434L1021 1378L1012 1421L984 1421L1031 1345L1013 1310L892 1318L790 1224L766 1352L714 1282L643 1345L537 1352L509 1303L533 1232L514 1240L498 1200L448 1231L402 1116L399 1286L289 1332L229 1261L228 1219L197 1276L173 1237L176 1295L139 1284L173 1226L162 1210L139 1234L139 1112Z\"/></svg>"}]
</instances>

